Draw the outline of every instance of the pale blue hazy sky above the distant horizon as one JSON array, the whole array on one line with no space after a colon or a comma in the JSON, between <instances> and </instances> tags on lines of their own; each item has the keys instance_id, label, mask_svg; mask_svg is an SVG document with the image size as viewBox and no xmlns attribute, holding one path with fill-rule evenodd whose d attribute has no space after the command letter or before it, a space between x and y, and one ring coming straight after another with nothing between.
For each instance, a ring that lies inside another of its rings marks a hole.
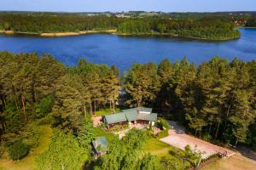
<instances>
[{"instance_id":1,"label":"pale blue hazy sky above the distant horizon","mask_svg":"<svg viewBox=\"0 0 256 170\"><path fill-rule=\"evenodd\" d=\"M0 0L0 10L32 11L165 11L256 10L256 0Z\"/></svg>"}]
</instances>

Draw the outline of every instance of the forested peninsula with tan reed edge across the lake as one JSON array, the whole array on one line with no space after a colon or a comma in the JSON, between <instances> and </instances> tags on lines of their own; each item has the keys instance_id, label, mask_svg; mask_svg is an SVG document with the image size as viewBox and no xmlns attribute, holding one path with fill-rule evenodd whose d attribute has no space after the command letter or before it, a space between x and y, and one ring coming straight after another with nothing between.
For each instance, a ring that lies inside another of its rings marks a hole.
<instances>
[{"instance_id":1,"label":"forested peninsula with tan reed edge across the lake","mask_svg":"<svg viewBox=\"0 0 256 170\"><path fill-rule=\"evenodd\" d=\"M189 37L201 40L231 40L240 37L235 25L220 16L172 19L170 16L119 18L79 14L0 14L3 33L36 34L47 37L87 33L122 36Z\"/></svg>"}]
</instances>

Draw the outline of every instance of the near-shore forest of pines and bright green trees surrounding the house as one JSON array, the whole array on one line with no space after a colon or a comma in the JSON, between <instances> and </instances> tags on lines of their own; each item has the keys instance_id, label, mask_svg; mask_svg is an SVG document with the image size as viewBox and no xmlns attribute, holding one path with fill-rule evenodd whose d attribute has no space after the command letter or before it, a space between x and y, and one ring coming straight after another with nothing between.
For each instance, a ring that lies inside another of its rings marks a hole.
<instances>
[{"instance_id":1,"label":"near-shore forest of pines and bright green trees surrounding the house","mask_svg":"<svg viewBox=\"0 0 256 170\"><path fill-rule=\"evenodd\" d=\"M124 106L118 105L120 99ZM50 150L38 156L40 169L173 165L172 159L142 156L147 134L137 130L123 140L113 137L109 153L92 159L90 141L96 128L90 117L106 108L114 112L135 106L154 108L200 139L256 150L256 61L213 57L195 65L186 58L174 63L164 59L158 65L134 64L120 77L114 65L94 65L85 59L67 67L48 54L0 53L0 153L7 151L13 160L38 145L40 125L50 125Z\"/></svg>"}]
</instances>

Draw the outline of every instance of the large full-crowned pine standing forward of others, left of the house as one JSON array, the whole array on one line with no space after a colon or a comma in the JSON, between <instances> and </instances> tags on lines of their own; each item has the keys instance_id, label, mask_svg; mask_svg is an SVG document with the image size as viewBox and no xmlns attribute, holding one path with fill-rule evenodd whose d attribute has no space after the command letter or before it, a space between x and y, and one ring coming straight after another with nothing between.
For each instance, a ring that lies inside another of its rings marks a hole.
<instances>
[{"instance_id":1,"label":"large full-crowned pine standing forward of others, left of the house","mask_svg":"<svg viewBox=\"0 0 256 170\"><path fill-rule=\"evenodd\" d=\"M77 89L75 78L67 75L61 77L61 80L55 87L55 105L52 109L54 126L76 133L84 121L83 99Z\"/></svg>"}]
</instances>

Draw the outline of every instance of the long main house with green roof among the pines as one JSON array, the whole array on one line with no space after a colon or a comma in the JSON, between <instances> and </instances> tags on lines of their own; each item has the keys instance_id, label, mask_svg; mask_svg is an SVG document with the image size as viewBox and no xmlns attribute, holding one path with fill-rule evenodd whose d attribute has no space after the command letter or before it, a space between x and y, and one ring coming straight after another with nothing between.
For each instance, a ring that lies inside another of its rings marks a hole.
<instances>
[{"instance_id":1,"label":"long main house with green roof among the pines","mask_svg":"<svg viewBox=\"0 0 256 170\"><path fill-rule=\"evenodd\" d=\"M113 115L104 116L104 122L109 127L116 125L133 124L150 124L154 126L157 121L157 114L152 113L152 108L137 107L132 109L123 110Z\"/></svg>"}]
</instances>

